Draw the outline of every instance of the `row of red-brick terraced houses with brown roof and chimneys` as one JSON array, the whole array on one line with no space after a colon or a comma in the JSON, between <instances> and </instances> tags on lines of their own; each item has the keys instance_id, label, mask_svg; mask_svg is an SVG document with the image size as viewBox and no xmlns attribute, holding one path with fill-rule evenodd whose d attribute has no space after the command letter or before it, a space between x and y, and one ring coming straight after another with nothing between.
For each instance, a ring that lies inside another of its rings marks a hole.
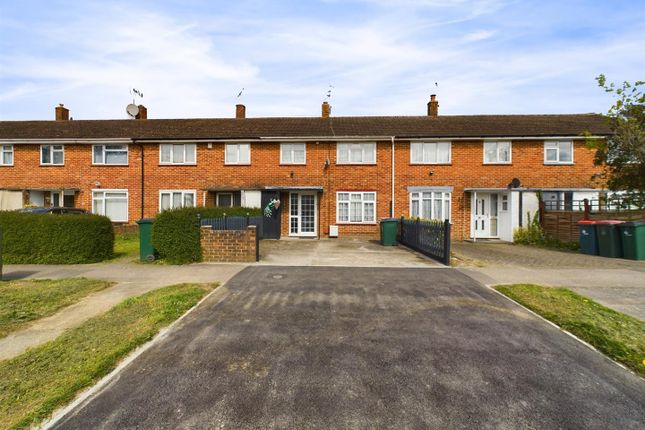
<instances>
[{"instance_id":1,"label":"row of red-brick terraced houses with brown roof and chimneys","mask_svg":"<svg viewBox=\"0 0 645 430\"><path fill-rule=\"evenodd\" d=\"M376 236L383 217L499 238L538 198L597 198L583 132L603 117L427 115L0 122L0 208L75 206L133 223L181 206L265 207L272 237ZM279 202L279 205L277 204ZM266 234L266 232L265 232Z\"/></svg>"}]
</instances>

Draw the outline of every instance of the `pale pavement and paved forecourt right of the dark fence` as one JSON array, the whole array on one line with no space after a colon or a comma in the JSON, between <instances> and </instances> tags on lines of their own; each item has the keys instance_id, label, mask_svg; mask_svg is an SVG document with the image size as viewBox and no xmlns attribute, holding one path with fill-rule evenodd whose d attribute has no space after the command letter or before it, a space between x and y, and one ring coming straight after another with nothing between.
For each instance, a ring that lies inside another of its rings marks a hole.
<instances>
[{"instance_id":1,"label":"pale pavement and paved forecourt right of the dark fence","mask_svg":"<svg viewBox=\"0 0 645 430\"><path fill-rule=\"evenodd\" d=\"M645 321L645 261L508 243L456 242L453 252L459 270L484 285L566 287Z\"/></svg>"}]
</instances>

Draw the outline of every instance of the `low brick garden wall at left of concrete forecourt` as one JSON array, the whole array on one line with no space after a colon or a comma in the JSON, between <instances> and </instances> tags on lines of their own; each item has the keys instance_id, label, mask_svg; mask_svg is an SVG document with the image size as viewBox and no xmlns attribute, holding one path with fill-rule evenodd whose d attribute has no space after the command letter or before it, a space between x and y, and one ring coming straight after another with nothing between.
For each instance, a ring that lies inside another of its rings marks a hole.
<instances>
[{"instance_id":1,"label":"low brick garden wall at left of concrete forecourt","mask_svg":"<svg viewBox=\"0 0 645 430\"><path fill-rule=\"evenodd\" d=\"M202 261L249 263L256 261L256 227L246 230L201 228Z\"/></svg>"}]
</instances>

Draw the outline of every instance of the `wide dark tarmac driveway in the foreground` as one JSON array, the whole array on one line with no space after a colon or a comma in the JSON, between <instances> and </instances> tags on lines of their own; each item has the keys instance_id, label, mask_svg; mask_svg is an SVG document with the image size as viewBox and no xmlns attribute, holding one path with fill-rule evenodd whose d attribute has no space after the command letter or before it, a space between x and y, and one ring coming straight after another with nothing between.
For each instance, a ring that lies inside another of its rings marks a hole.
<instances>
[{"instance_id":1,"label":"wide dark tarmac driveway in the foreground","mask_svg":"<svg viewBox=\"0 0 645 430\"><path fill-rule=\"evenodd\" d=\"M249 267L58 428L642 428L645 381L451 269Z\"/></svg>"}]
</instances>

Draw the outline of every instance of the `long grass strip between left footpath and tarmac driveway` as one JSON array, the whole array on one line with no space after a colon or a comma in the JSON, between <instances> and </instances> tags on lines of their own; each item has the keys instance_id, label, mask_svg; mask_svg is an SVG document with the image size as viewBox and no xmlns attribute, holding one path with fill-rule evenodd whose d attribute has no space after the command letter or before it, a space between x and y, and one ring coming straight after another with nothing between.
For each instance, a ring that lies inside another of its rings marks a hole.
<instances>
[{"instance_id":1,"label":"long grass strip between left footpath and tarmac driveway","mask_svg":"<svg viewBox=\"0 0 645 430\"><path fill-rule=\"evenodd\" d=\"M28 428L48 418L215 286L172 285L127 299L51 342L0 361L0 428Z\"/></svg>"}]
</instances>

